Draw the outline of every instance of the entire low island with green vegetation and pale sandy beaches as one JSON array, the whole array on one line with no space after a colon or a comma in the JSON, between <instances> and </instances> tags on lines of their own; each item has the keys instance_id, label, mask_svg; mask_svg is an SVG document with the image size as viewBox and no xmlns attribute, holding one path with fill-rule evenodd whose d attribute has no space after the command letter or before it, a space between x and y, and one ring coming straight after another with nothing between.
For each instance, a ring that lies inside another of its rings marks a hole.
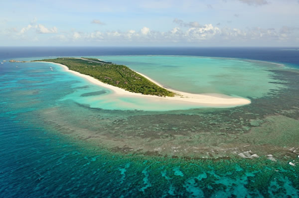
<instances>
[{"instance_id":1,"label":"entire low island with green vegetation and pale sandy beaches","mask_svg":"<svg viewBox=\"0 0 299 198\"><path fill-rule=\"evenodd\" d=\"M250 104L250 99L223 94L192 94L166 88L149 77L118 65L95 58L54 58L34 60L60 65L65 71L87 79L113 92L111 97L136 97L148 102L188 104L192 107L234 107ZM50 67L53 71L53 68ZM183 83L183 82L182 82Z\"/></svg>"}]
</instances>

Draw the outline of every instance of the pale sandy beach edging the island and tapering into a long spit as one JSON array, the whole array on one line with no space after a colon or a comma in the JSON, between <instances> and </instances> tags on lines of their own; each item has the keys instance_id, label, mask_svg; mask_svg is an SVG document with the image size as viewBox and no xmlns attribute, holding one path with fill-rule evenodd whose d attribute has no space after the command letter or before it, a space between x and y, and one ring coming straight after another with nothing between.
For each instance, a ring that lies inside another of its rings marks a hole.
<instances>
[{"instance_id":1,"label":"pale sandy beach edging the island and tapering into a long spit","mask_svg":"<svg viewBox=\"0 0 299 198\"><path fill-rule=\"evenodd\" d=\"M40 62L42 62L42 61L40 61ZM49 63L49 62L45 62L45 63ZM53 63L53 62L51 62L51 63ZM169 101L171 103L174 102L174 103L180 103L180 104L182 104L182 103L198 104L198 106L206 106L206 107L233 107L233 106L239 106L239 105L245 105L245 104L251 103L251 101L249 99L244 99L244 98L235 98L235 97L221 95L221 94L190 94L190 93L179 92L179 91L175 91L175 90L171 90L171 89L167 89L167 88L165 88L165 89L176 93L178 96L158 97L158 96L132 93L132 92L128 92L124 89L102 83L99 80L97 80L91 76L80 74L79 72L69 70L68 67L65 65L58 64L58 63L53 63L53 64L60 65L61 67L63 67L65 69L65 71L71 72L74 75L83 77L93 84L96 84L101 87L105 87L105 88L112 90L114 97L138 97L138 98L142 97L145 99L152 99L154 101L158 100L158 101L163 101L163 102ZM138 74L140 74L140 73L138 73ZM162 85L160 85L159 83L150 79L149 77L147 77L143 74L140 74L140 75L149 79L151 82L157 84L158 86L163 87Z\"/></svg>"}]
</instances>

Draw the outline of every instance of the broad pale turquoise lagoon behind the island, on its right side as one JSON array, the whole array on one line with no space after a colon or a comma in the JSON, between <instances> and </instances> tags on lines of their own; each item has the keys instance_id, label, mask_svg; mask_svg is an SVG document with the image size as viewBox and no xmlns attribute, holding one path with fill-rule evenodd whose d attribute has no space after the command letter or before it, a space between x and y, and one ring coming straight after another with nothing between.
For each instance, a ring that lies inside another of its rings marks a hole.
<instances>
[{"instance_id":1,"label":"broad pale turquoise lagoon behind the island, on its right side","mask_svg":"<svg viewBox=\"0 0 299 198\"><path fill-rule=\"evenodd\" d=\"M268 70L280 65L238 59L190 56L100 56L124 64L165 87L194 94L218 93L261 98L283 86L271 83Z\"/></svg>"}]
</instances>

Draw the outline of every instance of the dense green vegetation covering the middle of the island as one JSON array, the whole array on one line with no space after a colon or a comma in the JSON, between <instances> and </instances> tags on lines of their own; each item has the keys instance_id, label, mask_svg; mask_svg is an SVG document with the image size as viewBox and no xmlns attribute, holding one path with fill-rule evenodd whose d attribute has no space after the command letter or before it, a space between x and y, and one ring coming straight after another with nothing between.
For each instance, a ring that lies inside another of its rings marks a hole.
<instances>
[{"instance_id":1,"label":"dense green vegetation covering the middle of the island","mask_svg":"<svg viewBox=\"0 0 299 198\"><path fill-rule=\"evenodd\" d=\"M103 83L125 89L129 92L161 97L174 96L173 92L157 86L124 65L116 65L92 58L56 58L35 61L59 63L67 66L70 70L89 75Z\"/></svg>"}]
</instances>

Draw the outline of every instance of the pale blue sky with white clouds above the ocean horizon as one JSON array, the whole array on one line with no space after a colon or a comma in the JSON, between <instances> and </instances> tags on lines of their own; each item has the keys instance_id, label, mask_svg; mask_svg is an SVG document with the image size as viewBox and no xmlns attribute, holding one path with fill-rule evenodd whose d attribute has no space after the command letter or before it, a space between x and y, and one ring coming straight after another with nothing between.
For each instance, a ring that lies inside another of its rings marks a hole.
<instances>
[{"instance_id":1,"label":"pale blue sky with white clouds above the ocean horizon","mask_svg":"<svg viewBox=\"0 0 299 198\"><path fill-rule=\"evenodd\" d=\"M0 46L299 47L299 0L0 4Z\"/></svg>"}]
</instances>

